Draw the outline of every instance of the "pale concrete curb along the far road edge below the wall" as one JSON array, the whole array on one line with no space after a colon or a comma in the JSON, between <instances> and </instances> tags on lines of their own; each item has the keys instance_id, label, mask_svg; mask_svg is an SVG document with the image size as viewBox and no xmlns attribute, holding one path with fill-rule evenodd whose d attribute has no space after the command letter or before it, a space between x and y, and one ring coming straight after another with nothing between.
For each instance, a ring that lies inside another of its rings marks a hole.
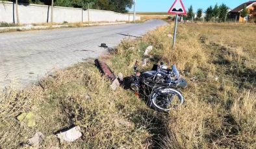
<instances>
[{"instance_id":1,"label":"pale concrete curb along the far road edge below the wall","mask_svg":"<svg viewBox=\"0 0 256 149\"><path fill-rule=\"evenodd\" d=\"M115 23L92 23L92 24L84 24L83 27L89 26L101 26L101 25L122 25L126 24L126 22L115 22ZM28 27L0 27L0 30L11 30L11 29L49 29L49 28L60 28L60 27L72 27L72 25L51 25L51 26L28 26Z\"/></svg>"}]
</instances>

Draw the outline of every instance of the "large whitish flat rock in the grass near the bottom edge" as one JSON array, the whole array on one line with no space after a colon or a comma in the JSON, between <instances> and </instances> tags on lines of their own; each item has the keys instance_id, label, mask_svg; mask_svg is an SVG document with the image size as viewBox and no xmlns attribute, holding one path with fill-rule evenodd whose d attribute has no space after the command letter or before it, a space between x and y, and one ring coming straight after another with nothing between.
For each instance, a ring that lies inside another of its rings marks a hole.
<instances>
[{"instance_id":1,"label":"large whitish flat rock in the grass near the bottom edge","mask_svg":"<svg viewBox=\"0 0 256 149\"><path fill-rule=\"evenodd\" d=\"M57 137L58 139L60 139L60 143L62 143L63 141L73 142L79 139L80 137L82 137L82 133L80 131L81 131L80 126L75 126L70 130L66 130L65 132L58 133Z\"/></svg>"}]
</instances>

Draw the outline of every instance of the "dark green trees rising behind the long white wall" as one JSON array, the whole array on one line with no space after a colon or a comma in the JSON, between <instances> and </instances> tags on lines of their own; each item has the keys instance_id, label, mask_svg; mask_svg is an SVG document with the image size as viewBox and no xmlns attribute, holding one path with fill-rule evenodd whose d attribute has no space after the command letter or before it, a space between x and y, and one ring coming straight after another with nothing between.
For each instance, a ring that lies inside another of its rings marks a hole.
<instances>
[{"instance_id":1,"label":"dark green trees rising behind the long white wall","mask_svg":"<svg viewBox=\"0 0 256 149\"><path fill-rule=\"evenodd\" d=\"M16 0L8 0L16 2ZM18 0L18 3L51 5L51 0ZM92 8L99 10L111 10L127 13L127 8L133 6L133 0L54 0L54 6L66 6L73 8Z\"/></svg>"}]
</instances>

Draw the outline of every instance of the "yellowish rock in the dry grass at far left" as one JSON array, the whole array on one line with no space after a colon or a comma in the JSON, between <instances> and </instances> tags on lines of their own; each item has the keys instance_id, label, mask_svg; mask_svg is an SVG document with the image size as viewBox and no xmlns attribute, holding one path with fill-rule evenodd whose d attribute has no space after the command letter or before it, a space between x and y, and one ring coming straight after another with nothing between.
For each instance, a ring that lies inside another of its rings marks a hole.
<instances>
[{"instance_id":1,"label":"yellowish rock in the dry grass at far left","mask_svg":"<svg viewBox=\"0 0 256 149\"><path fill-rule=\"evenodd\" d=\"M25 124L28 127L32 127L36 125L36 120L34 119L34 113L29 112L29 113L21 113L17 119L21 124Z\"/></svg>"}]
</instances>

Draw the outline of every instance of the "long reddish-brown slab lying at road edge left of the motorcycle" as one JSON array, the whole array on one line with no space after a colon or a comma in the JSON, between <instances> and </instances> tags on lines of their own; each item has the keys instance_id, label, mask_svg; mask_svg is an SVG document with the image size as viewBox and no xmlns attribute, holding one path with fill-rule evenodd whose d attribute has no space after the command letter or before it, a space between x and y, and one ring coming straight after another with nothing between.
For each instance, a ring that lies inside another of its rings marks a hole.
<instances>
[{"instance_id":1,"label":"long reddish-brown slab lying at road edge left of the motorcycle","mask_svg":"<svg viewBox=\"0 0 256 149\"><path fill-rule=\"evenodd\" d=\"M114 73L112 72L112 70L109 68L109 66L106 63L100 62L97 59L94 62L96 64L96 67L99 69L99 71L101 72L102 75L109 76L110 80L116 79L116 76L114 75Z\"/></svg>"}]
</instances>

